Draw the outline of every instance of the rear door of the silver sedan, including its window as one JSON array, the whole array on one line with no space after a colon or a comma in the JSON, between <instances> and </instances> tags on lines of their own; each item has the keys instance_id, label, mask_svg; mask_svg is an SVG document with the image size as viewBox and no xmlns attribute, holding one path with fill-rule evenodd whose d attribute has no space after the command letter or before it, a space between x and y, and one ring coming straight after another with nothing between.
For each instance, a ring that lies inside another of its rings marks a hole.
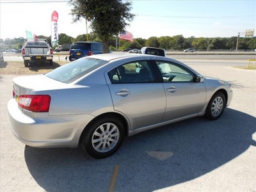
<instances>
[{"instance_id":1,"label":"rear door of the silver sedan, including its window","mask_svg":"<svg viewBox=\"0 0 256 192\"><path fill-rule=\"evenodd\" d=\"M108 73L113 106L127 118L131 130L161 122L166 108L163 84L156 83L150 61L132 61Z\"/></svg>"}]
</instances>

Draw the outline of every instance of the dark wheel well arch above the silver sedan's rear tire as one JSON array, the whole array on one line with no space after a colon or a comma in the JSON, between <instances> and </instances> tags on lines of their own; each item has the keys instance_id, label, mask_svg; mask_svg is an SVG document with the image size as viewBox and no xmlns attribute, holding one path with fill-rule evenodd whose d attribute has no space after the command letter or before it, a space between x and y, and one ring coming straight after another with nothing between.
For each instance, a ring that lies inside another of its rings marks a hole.
<instances>
[{"instance_id":1,"label":"dark wheel well arch above the silver sedan's rear tire","mask_svg":"<svg viewBox=\"0 0 256 192\"><path fill-rule=\"evenodd\" d=\"M118 113L104 113L104 114L102 114L102 115L99 115L99 116L96 116L95 118L93 118L93 120L92 120L89 124L87 124L86 127L84 127L84 130L83 130L83 132L82 132L82 134L81 134L79 140L81 140L81 138L82 138L84 132L86 132L86 129L87 129L88 127L90 127L90 125L92 125L94 122L96 122L97 120L99 120L99 118L106 117L106 116L115 116L116 118L118 118L118 119L120 120L120 122L122 122L122 124L124 125L125 136L128 135L128 132L129 132L129 131L128 131L128 127L129 127L129 126L128 126L128 122L127 122L127 120L124 118L124 116L122 116L122 115L120 115L120 114L118 114ZM79 141L79 143L80 143L80 141Z\"/></svg>"}]
</instances>

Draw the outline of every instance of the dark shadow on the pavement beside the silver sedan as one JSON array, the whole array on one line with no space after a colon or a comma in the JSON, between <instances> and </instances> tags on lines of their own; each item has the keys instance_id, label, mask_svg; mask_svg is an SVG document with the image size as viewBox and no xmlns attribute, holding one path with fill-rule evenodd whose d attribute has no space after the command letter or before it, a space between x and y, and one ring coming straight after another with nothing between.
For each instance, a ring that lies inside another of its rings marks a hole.
<instances>
[{"instance_id":1,"label":"dark shadow on the pavement beside the silver sedan","mask_svg":"<svg viewBox=\"0 0 256 192\"><path fill-rule=\"evenodd\" d=\"M192 118L136 134L106 159L81 148L25 147L24 153L45 191L108 191L117 165L115 191L154 191L196 179L256 146L255 124L254 116L227 108L216 121Z\"/></svg>"}]
</instances>

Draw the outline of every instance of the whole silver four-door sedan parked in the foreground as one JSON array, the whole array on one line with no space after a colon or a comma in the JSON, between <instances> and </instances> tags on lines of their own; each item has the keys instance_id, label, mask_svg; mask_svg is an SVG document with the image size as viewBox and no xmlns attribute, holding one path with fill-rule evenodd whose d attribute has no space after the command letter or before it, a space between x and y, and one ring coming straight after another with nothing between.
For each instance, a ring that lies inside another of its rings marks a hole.
<instances>
[{"instance_id":1,"label":"whole silver four-door sedan parked in the foreground","mask_svg":"<svg viewBox=\"0 0 256 192\"><path fill-rule=\"evenodd\" d=\"M14 136L32 147L81 147L104 158L125 136L205 116L232 100L230 84L180 61L142 54L98 54L48 74L15 77L8 114Z\"/></svg>"}]
</instances>

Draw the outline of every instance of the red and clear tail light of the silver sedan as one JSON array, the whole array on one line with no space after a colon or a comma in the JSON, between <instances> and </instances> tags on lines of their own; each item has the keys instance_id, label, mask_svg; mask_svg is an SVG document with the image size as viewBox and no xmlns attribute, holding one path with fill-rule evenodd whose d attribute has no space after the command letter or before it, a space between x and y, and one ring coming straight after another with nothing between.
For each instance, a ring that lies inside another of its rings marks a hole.
<instances>
[{"instance_id":1,"label":"red and clear tail light of the silver sedan","mask_svg":"<svg viewBox=\"0 0 256 192\"><path fill-rule=\"evenodd\" d=\"M50 95L19 95L20 108L33 112L48 112L50 108Z\"/></svg>"}]
</instances>

